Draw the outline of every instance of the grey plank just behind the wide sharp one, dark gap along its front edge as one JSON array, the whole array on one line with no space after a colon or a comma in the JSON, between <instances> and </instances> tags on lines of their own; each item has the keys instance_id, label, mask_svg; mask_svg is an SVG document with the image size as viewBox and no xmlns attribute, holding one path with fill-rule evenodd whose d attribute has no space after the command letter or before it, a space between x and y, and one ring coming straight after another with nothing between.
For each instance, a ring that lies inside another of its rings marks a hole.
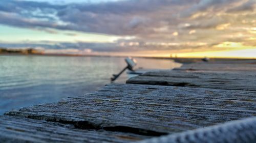
<instances>
[{"instance_id":1,"label":"grey plank just behind the wide sharp one, dark gap along its front edge","mask_svg":"<svg viewBox=\"0 0 256 143\"><path fill-rule=\"evenodd\" d=\"M126 83L256 91L256 72L147 72Z\"/></svg>"}]
</instances>

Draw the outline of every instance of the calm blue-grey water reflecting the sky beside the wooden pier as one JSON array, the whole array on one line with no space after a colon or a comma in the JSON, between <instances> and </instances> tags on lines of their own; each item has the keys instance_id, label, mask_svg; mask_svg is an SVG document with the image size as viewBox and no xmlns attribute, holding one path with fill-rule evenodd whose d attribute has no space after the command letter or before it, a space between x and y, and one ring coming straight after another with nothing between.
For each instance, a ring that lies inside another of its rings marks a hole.
<instances>
[{"instance_id":1,"label":"calm blue-grey water reflecting the sky beside the wooden pier","mask_svg":"<svg viewBox=\"0 0 256 143\"><path fill-rule=\"evenodd\" d=\"M171 60L136 59L137 68L172 69ZM110 83L124 58L69 56L0 56L0 115L11 109L57 102L96 91ZM124 83L124 73L116 82Z\"/></svg>"}]
</instances>

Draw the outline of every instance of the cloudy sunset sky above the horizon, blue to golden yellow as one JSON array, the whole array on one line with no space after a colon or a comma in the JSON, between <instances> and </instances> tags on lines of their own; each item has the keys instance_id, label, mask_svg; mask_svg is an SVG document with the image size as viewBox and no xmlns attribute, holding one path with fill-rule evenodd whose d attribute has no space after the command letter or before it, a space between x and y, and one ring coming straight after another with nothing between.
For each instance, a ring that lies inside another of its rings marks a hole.
<instances>
[{"instance_id":1,"label":"cloudy sunset sky above the horizon, blue to golden yellow","mask_svg":"<svg viewBox=\"0 0 256 143\"><path fill-rule=\"evenodd\" d=\"M1 0L0 47L256 58L256 0Z\"/></svg>"}]
</instances>

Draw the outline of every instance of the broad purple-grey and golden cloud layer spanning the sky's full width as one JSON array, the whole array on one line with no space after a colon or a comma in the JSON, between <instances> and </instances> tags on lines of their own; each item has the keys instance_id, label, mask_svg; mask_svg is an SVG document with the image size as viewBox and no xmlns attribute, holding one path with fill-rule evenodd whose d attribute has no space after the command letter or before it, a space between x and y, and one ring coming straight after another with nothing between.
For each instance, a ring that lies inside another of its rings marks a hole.
<instances>
[{"instance_id":1,"label":"broad purple-grey and golden cloud layer spanning the sky's full width","mask_svg":"<svg viewBox=\"0 0 256 143\"><path fill-rule=\"evenodd\" d=\"M256 26L255 16L254 0L125 0L63 5L2 0L0 4L1 24L49 33L56 29L134 37L112 43L2 43L8 47L92 52L212 48L239 38L251 44L247 39L255 33L245 29ZM79 36L75 32L67 35Z\"/></svg>"}]
</instances>

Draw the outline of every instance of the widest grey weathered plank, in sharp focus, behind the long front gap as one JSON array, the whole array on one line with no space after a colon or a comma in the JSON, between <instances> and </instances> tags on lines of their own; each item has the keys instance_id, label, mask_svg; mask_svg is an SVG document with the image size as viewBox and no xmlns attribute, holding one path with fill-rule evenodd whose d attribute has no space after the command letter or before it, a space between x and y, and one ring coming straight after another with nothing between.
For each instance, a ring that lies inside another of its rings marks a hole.
<instances>
[{"instance_id":1,"label":"widest grey weathered plank, in sharp focus, behind the long front gap","mask_svg":"<svg viewBox=\"0 0 256 143\"><path fill-rule=\"evenodd\" d=\"M80 128L162 135L256 115L256 92L109 84L98 92L7 112Z\"/></svg>"}]
</instances>

